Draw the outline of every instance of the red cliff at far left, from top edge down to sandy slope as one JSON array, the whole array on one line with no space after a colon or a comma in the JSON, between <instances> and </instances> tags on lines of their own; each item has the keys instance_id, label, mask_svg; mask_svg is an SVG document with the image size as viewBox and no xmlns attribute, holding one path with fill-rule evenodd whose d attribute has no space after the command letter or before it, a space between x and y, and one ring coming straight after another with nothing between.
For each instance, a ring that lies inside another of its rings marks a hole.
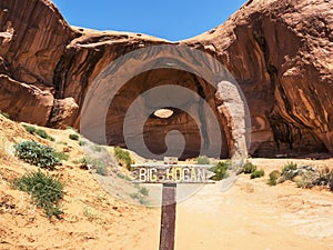
<instances>
[{"instance_id":1,"label":"red cliff at far left, from top edge down to sandy slope","mask_svg":"<svg viewBox=\"0 0 333 250\"><path fill-rule=\"evenodd\" d=\"M49 1L0 2L0 109L46 126L53 106L53 71L75 33Z\"/></svg>"}]
</instances>

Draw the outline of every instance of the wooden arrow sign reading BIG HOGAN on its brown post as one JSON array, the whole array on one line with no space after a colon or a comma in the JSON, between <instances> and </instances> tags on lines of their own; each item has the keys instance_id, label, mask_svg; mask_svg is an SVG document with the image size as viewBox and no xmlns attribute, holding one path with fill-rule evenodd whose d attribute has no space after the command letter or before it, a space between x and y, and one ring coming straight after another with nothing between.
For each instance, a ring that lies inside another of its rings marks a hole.
<instances>
[{"instance_id":1,"label":"wooden arrow sign reading BIG HOGAN on its brown post","mask_svg":"<svg viewBox=\"0 0 333 250\"><path fill-rule=\"evenodd\" d=\"M164 164L132 164L137 183L161 183L162 211L160 250L174 250L175 207L178 183L214 183L209 181L214 176L208 169L210 164L174 164L164 160Z\"/></svg>"}]
</instances>

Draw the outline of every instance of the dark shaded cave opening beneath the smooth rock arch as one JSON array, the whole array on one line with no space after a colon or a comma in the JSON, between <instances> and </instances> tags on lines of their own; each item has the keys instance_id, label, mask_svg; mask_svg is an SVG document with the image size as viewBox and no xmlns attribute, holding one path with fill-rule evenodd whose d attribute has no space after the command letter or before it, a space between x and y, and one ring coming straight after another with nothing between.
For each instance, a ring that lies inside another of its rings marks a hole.
<instances>
[{"instance_id":1,"label":"dark shaded cave opening beneath the smooth rock arch","mask_svg":"<svg viewBox=\"0 0 333 250\"><path fill-rule=\"evenodd\" d=\"M175 98L180 93L173 88L167 88L170 86L185 88L193 94ZM158 94L145 96L147 91L159 87L164 87L164 90ZM158 159L162 159L168 150L168 140L181 137L180 142L172 144L172 148L176 152L182 151L179 158L183 160L198 157L202 147L209 148L213 143L211 138L221 134L220 158L228 158L231 151L228 140L230 131L225 126L223 113L221 114L216 109L215 91L214 86L184 70L160 68L144 71L125 82L112 99L105 120L107 143L128 148L125 133L133 139L141 137L147 148L160 156ZM160 100L169 99L173 99L172 107L160 104ZM212 122L208 120L205 103L213 111L214 119L220 126L221 132L219 133L210 129ZM123 123L125 119L129 120L129 108L134 110L134 116L130 119L128 132L125 132ZM196 113L199 120L195 120L191 112ZM135 130L137 120L140 118L147 118L142 132ZM149 158L149 156L142 157Z\"/></svg>"}]
</instances>

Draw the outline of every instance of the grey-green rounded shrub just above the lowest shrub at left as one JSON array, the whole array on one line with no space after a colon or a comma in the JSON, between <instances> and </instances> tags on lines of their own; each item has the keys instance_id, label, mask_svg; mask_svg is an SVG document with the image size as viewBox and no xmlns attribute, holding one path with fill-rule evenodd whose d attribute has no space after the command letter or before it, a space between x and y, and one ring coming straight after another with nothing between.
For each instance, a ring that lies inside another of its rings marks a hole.
<instances>
[{"instance_id":1,"label":"grey-green rounded shrub just above the lowest shrub at left","mask_svg":"<svg viewBox=\"0 0 333 250\"><path fill-rule=\"evenodd\" d=\"M14 149L17 157L40 168L53 170L54 166L60 162L53 148L34 141L23 141L19 144L16 144Z\"/></svg>"}]
</instances>

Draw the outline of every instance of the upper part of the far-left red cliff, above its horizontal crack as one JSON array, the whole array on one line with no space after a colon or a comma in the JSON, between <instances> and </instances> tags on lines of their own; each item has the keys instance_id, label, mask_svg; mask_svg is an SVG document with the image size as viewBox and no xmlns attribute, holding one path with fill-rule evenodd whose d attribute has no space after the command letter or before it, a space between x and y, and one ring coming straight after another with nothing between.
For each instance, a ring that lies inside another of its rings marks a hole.
<instances>
[{"instance_id":1,"label":"upper part of the far-left red cliff, above its horizontal crack","mask_svg":"<svg viewBox=\"0 0 333 250\"><path fill-rule=\"evenodd\" d=\"M75 37L50 1L1 0L0 56L6 73L33 84L52 86L54 68Z\"/></svg>"}]
</instances>

